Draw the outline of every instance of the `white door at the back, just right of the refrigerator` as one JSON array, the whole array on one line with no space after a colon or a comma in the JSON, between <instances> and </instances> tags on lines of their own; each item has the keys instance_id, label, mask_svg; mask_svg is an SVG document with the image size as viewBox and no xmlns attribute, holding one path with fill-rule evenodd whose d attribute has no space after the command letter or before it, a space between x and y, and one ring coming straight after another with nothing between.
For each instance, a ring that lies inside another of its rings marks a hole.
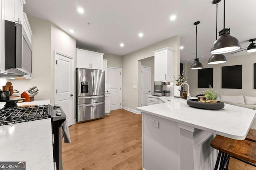
<instances>
[{"instance_id":1,"label":"white door at the back, just right of the refrigerator","mask_svg":"<svg viewBox=\"0 0 256 170\"><path fill-rule=\"evenodd\" d=\"M122 108L122 68L107 68L107 91L110 93L110 110Z\"/></svg>"}]
</instances>

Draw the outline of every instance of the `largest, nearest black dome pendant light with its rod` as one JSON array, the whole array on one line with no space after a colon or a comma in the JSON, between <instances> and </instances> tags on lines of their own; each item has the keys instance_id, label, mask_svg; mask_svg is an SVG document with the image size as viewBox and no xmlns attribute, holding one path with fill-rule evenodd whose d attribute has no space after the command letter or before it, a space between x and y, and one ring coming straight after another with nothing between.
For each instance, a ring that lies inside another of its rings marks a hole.
<instances>
[{"instance_id":1,"label":"largest, nearest black dome pendant light with its rod","mask_svg":"<svg viewBox=\"0 0 256 170\"><path fill-rule=\"evenodd\" d=\"M238 39L230 35L230 29L225 28L225 0L224 0L224 28L219 32L219 38L213 43L211 53L229 53L240 49Z\"/></svg>"}]
</instances>

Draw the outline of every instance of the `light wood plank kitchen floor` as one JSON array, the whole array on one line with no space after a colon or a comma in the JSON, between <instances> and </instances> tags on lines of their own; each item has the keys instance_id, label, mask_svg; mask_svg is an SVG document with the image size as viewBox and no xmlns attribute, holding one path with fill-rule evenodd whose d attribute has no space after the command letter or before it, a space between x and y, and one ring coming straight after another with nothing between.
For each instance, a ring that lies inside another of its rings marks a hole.
<instances>
[{"instance_id":1,"label":"light wood plank kitchen floor","mask_svg":"<svg viewBox=\"0 0 256 170\"><path fill-rule=\"evenodd\" d=\"M72 142L62 144L64 170L142 170L141 114L114 110L69 130ZM234 159L228 169L256 170Z\"/></svg>"}]
</instances>

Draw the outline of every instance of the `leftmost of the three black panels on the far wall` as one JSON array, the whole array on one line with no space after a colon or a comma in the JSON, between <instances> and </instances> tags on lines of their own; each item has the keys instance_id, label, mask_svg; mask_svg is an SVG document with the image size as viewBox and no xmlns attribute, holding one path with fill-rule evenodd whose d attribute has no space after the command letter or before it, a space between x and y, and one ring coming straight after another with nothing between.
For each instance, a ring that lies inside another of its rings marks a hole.
<instances>
[{"instance_id":1,"label":"leftmost of the three black panels on the far wall","mask_svg":"<svg viewBox=\"0 0 256 170\"><path fill-rule=\"evenodd\" d=\"M198 70L198 88L213 87L213 68L202 68Z\"/></svg>"}]
</instances>

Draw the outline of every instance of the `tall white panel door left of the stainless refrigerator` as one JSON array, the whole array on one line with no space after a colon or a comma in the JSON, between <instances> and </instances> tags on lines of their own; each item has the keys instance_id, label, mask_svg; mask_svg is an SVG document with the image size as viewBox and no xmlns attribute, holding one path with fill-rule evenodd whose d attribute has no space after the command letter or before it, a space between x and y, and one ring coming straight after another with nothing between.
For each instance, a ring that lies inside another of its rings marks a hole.
<instances>
[{"instance_id":1,"label":"tall white panel door left of the stainless refrigerator","mask_svg":"<svg viewBox=\"0 0 256 170\"><path fill-rule=\"evenodd\" d=\"M74 59L55 51L55 102L67 116L68 126L74 124Z\"/></svg>"}]
</instances>

